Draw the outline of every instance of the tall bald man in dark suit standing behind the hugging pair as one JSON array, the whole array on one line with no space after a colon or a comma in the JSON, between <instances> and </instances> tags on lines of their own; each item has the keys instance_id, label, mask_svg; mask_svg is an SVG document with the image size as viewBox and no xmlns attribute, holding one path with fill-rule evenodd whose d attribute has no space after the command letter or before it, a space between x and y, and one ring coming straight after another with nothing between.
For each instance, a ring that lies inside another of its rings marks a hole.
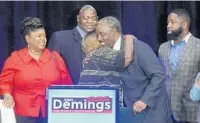
<instances>
[{"instance_id":1,"label":"tall bald man in dark suit standing behind the hugging pair","mask_svg":"<svg viewBox=\"0 0 200 123\"><path fill-rule=\"evenodd\" d=\"M90 6L83 6L77 15L78 25L72 30L58 31L52 34L48 48L60 53L71 75L73 84L77 84L82 70L84 52L81 41L84 36L94 31L97 22L97 12Z\"/></svg>"}]
</instances>

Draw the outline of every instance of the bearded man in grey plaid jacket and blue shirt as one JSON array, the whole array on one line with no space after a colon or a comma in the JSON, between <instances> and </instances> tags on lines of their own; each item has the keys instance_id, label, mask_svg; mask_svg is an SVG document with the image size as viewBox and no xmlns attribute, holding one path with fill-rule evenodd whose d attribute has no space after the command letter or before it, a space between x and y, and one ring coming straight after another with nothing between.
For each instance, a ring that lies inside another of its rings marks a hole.
<instances>
[{"instance_id":1,"label":"bearded man in grey plaid jacket and blue shirt","mask_svg":"<svg viewBox=\"0 0 200 123\"><path fill-rule=\"evenodd\" d=\"M189 32L190 16L184 9L168 15L169 41L159 48L167 73L166 88L175 123L196 123L198 102L190 99L190 89L200 71L200 40Z\"/></svg>"}]
</instances>

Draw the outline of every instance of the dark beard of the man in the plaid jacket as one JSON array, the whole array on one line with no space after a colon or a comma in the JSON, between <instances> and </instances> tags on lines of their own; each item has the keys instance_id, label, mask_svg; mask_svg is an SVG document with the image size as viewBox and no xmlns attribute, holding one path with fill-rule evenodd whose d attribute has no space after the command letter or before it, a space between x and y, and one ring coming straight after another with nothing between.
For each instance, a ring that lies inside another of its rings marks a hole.
<instances>
[{"instance_id":1,"label":"dark beard of the man in the plaid jacket","mask_svg":"<svg viewBox=\"0 0 200 123\"><path fill-rule=\"evenodd\" d=\"M179 36L182 34L183 28L179 27L177 30L174 31L168 31L167 33L167 39L168 40L177 40Z\"/></svg>"}]
</instances>

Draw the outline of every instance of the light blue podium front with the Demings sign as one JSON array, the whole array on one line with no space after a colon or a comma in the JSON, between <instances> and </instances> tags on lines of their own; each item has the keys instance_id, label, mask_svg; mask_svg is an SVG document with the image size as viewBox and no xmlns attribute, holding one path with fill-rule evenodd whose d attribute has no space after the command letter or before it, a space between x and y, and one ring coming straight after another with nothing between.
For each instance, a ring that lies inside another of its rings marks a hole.
<instances>
[{"instance_id":1,"label":"light blue podium front with the Demings sign","mask_svg":"<svg viewBox=\"0 0 200 123\"><path fill-rule=\"evenodd\" d=\"M101 86L51 86L48 123L118 123L118 91Z\"/></svg>"}]
</instances>

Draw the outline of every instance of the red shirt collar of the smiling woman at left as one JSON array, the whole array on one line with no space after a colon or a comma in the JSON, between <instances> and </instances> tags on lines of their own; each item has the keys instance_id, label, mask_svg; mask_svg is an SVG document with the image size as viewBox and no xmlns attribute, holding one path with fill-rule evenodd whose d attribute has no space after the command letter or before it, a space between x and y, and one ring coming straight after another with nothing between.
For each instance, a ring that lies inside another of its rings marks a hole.
<instances>
[{"instance_id":1,"label":"red shirt collar of the smiling woman at left","mask_svg":"<svg viewBox=\"0 0 200 123\"><path fill-rule=\"evenodd\" d=\"M33 57L31 57L31 55L29 55L28 53L28 48L25 47L21 50L19 50L19 56L21 58L21 60L25 63L25 64L29 64L31 60L33 60ZM51 52L45 48L42 51L42 55L40 56L39 61L43 62L44 64L47 63L49 61L49 59L51 58Z\"/></svg>"}]
</instances>

